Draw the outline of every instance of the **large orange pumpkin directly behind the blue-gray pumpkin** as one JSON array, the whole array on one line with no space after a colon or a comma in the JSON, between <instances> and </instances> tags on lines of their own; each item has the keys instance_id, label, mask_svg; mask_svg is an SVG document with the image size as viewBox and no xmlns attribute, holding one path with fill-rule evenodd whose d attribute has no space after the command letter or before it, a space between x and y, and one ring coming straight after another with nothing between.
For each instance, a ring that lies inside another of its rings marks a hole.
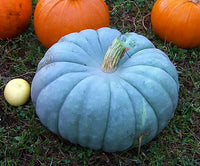
<instances>
[{"instance_id":1,"label":"large orange pumpkin directly behind the blue-gray pumpkin","mask_svg":"<svg viewBox=\"0 0 200 166\"><path fill-rule=\"evenodd\" d=\"M46 48L69 33L108 26L103 0L39 0L34 12L35 33Z\"/></svg>"}]
</instances>

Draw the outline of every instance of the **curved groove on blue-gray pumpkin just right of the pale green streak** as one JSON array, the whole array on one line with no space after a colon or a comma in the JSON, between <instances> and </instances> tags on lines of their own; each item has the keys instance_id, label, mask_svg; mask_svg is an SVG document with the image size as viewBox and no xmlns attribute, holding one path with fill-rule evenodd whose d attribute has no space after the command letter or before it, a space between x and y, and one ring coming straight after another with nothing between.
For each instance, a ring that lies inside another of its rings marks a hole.
<instances>
[{"instance_id":1,"label":"curved groove on blue-gray pumpkin just right of the pale green streak","mask_svg":"<svg viewBox=\"0 0 200 166\"><path fill-rule=\"evenodd\" d=\"M119 76L119 78L121 78L121 76ZM159 130L160 130L160 125L159 125L159 123L160 123L160 120L159 120L159 118L158 118L158 114L157 114L157 111L155 111L155 108L151 105L151 103L148 101L148 99L146 99L145 98L145 96L144 96L144 94L143 93L141 93L141 91L135 86L135 85L133 85L133 84L131 84L130 82L129 82L129 80L126 80L125 78L121 78L122 80L124 80L124 81L126 81L130 86L132 86L134 89L136 89L137 91L138 91L138 93L140 93L142 96L143 96L143 98L147 101L147 103L150 105L150 107L152 108L152 110L153 110L153 112L154 112L154 114L155 114L155 117L156 117L156 119L157 119L157 131L156 131L156 135L158 134L158 132L159 132Z\"/></svg>"}]
</instances>

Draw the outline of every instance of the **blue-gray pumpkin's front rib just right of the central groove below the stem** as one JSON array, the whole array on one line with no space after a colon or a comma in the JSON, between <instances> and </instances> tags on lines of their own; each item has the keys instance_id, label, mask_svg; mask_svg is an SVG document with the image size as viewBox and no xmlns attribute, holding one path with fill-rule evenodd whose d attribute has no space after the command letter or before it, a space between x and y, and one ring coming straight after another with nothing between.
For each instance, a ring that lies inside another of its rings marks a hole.
<instances>
[{"instance_id":1,"label":"blue-gray pumpkin's front rib just right of the central groove below the stem","mask_svg":"<svg viewBox=\"0 0 200 166\"><path fill-rule=\"evenodd\" d=\"M104 150L110 152L115 150L122 151L126 149L127 146L130 147L132 144L132 134L135 130L132 130L135 122L132 119L133 116L130 116L133 115L133 111L130 109L132 104L130 101L127 101L129 100L129 97L124 88L121 87L119 81L117 81L119 79L117 77L114 79L115 81L112 79L110 80L110 121L108 123L109 125L105 137L106 141L104 142L104 147L106 147L106 145L108 147L108 145L115 141L115 143L113 143L109 148L104 148ZM118 87L118 90L115 89L115 86ZM127 121L125 122L121 117L124 117ZM121 127L124 128L124 130L119 130Z\"/></svg>"}]
</instances>

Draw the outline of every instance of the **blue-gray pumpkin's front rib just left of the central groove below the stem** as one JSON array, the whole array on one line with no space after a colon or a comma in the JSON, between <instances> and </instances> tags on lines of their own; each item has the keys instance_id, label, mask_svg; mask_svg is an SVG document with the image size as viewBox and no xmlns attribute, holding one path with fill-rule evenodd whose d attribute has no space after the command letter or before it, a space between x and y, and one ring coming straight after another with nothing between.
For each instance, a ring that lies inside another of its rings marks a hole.
<instances>
[{"instance_id":1,"label":"blue-gray pumpkin's front rib just left of the central groove below the stem","mask_svg":"<svg viewBox=\"0 0 200 166\"><path fill-rule=\"evenodd\" d=\"M94 80L95 80L95 83L94 83ZM95 108L91 109L90 108L90 104L93 103L92 100L95 100L95 98L103 98L103 100L99 100L98 104L105 104L106 105L106 108L109 109L109 105L110 105L110 100L108 100L110 98L110 92L106 91L106 93L104 93L104 96L106 95L107 97L100 97L101 93L103 92L104 89L100 88L101 91L98 90L95 90L96 88L99 87L99 81L103 84L104 88L108 88L109 85L108 85L108 81L105 82L105 78L104 77L99 77L98 75L94 75L93 77L90 77L89 79L87 80L84 80L86 81L86 83L84 83L85 85L84 86L79 86L79 89L81 89L81 91L87 91L86 94L84 94L84 99L83 100L83 103L82 103L82 107L80 107L79 109L82 110L81 112L81 117L80 119L78 120L78 123L79 123L79 129L78 129L78 133L79 133L79 136L78 136L78 143L82 146L86 146L86 142L88 142L88 146L90 148L94 148L94 149L100 149L103 147L103 141L104 141L104 134L105 134L105 129L107 128L107 120L109 118L109 113L106 110L101 110L101 106L96 106ZM101 84L101 85L102 85ZM94 91L95 90L95 91ZM83 97L82 96L82 97ZM108 101L108 102L107 102ZM103 103L102 103L103 102ZM105 107L103 107L105 108ZM96 111L96 113L95 113ZM88 114L89 113L89 114ZM89 117L86 118L85 115L87 115ZM105 118L105 120L103 121L103 127L100 127L101 124L102 124L102 121L93 121L93 119L98 119L99 116L97 117L98 114L101 114L102 116L100 116L101 118ZM92 118L92 119L91 119ZM87 120L87 121L86 121ZM100 122L100 125L99 125L99 122ZM86 128L85 127L82 127L84 124L89 124L88 127ZM99 126L98 126L99 125ZM91 127L90 127L91 126ZM95 127L96 126L96 127ZM101 130L98 130L100 127ZM90 129L90 130L89 130ZM84 131L84 133L83 133ZM86 132L87 131L87 132ZM96 131L98 131L98 133L96 133ZM87 134L85 134L87 133ZM98 146L95 146L95 144L97 143L92 136L91 136L91 133L93 133L92 135L99 135L99 133L102 133L100 134L100 136L97 138L98 140ZM82 135L85 134L85 137L83 139Z\"/></svg>"}]
</instances>

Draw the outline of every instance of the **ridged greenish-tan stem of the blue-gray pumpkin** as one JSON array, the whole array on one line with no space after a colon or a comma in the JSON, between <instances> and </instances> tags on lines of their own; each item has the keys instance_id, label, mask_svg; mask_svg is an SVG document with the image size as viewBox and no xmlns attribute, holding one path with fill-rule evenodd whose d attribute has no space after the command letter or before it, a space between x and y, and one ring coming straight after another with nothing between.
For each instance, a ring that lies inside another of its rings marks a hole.
<instances>
[{"instance_id":1,"label":"ridged greenish-tan stem of the blue-gray pumpkin","mask_svg":"<svg viewBox=\"0 0 200 166\"><path fill-rule=\"evenodd\" d=\"M118 62L125 53L125 47L123 46L120 38L117 37L113 40L111 46L108 48L101 65L102 71L106 73L112 73L117 69Z\"/></svg>"}]
</instances>

